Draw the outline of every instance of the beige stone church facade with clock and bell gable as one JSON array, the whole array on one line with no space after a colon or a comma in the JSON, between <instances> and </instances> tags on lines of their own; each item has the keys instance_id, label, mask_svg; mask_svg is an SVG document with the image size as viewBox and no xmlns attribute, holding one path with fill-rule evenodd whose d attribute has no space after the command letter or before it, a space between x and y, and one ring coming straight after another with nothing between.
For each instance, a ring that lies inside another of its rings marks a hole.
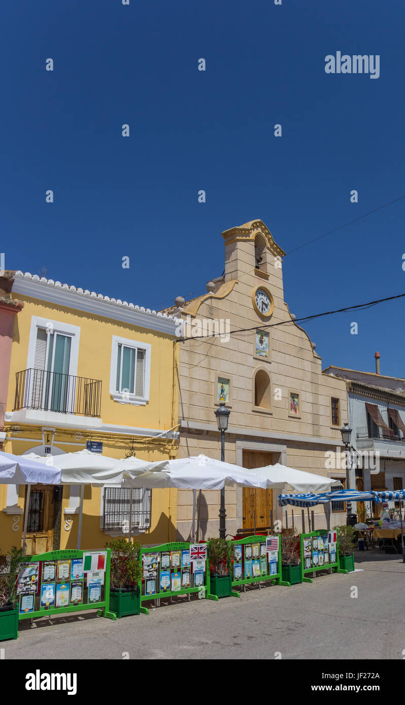
<instances>
[{"instance_id":1,"label":"beige stone church facade with clock and bell gable","mask_svg":"<svg viewBox=\"0 0 405 705\"><path fill-rule=\"evenodd\" d=\"M298 470L343 479L344 470L327 471L325 453L337 447L340 450L339 429L347 420L346 386L343 380L322 374L322 360L315 353L315 344L289 312L283 290L284 252L260 220L231 228L222 236L224 276L207 283L207 294L190 302L178 298L170 309L185 321L179 342L179 457L200 453L221 457L214 410L223 384L225 403L231 410L225 436L226 461L246 467L282 462ZM264 304L258 288L264 291ZM267 316L260 313L260 306L269 304L266 297L270 300ZM274 325L282 321L287 322ZM258 339L256 347L259 326L269 326L259 331L268 334L267 356L266 340ZM221 335L212 337L211 330ZM332 398L338 406L335 423ZM249 492L226 489L228 534L249 526L243 514L246 515L249 502L257 501L247 496ZM267 510L272 505L273 519L282 517L276 494L279 493L272 492L267 505ZM200 539L217 535L219 495L219 491L200 496L197 493L195 502L193 492L178 492L179 538L193 535L196 527ZM249 509L250 521L254 510ZM260 513L260 508L257 510L256 514ZM285 511L283 517L285 522ZM345 517L334 514L332 522L344 523ZM301 530L301 510L296 510L294 523ZM256 527L269 524L270 516L260 519L255 515ZM315 527L318 526L325 526L321 507L315 508Z\"/></svg>"}]
</instances>

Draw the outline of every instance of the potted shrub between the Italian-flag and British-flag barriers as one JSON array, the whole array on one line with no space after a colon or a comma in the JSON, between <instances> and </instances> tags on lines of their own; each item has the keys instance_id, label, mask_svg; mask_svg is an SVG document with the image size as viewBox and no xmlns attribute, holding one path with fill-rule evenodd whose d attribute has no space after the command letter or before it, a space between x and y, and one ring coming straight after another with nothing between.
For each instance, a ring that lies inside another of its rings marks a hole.
<instances>
[{"instance_id":1,"label":"potted shrub between the Italian-flag and British-flag barriers","mask_svg":"<svg viewBox=\"0 0 405 705\"><path fill-rule=\"evenodd\" d=\"M139 544L126 539L111 539L106 548L111 550L109 608L117 617L140 613L139 581L142 568Z\"/></svg>"}]
</instances>

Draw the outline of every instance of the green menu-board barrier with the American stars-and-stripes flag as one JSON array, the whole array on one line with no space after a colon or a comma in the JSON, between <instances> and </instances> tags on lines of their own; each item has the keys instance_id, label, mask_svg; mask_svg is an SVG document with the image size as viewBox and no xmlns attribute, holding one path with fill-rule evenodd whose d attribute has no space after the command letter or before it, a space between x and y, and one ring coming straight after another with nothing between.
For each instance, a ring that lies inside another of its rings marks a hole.
<instances>
[{"instance_id":1,"label":"green menu-board barrier with the American stars-and-stripes flag","mask_svg":"<svg viewBox=\"0 0 405 705\"><path fill-rule=\"evenodd\" d=\"M277 551L272 552L276 553L277 560L267 554L266 538L277 538ZM231 546L232 587L267 580L274 581L276 585L290 587L289 582L282 580L282 545L279 537L249 536L246 539L231 541ZM232 595L240 597L236 590L232 591Z\"/></svg>"}]
</instances>

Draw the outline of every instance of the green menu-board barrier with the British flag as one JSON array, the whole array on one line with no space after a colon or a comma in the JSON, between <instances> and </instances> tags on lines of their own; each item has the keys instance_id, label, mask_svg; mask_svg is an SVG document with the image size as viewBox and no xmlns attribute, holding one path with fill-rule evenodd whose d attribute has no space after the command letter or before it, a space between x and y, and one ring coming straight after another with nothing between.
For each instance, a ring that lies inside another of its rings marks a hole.
<instances>
[{"instance_id":1,"label":"green menu-board barrier with the British flag","mask_svg":"<svg viewBox=\"0 0 405 705\"><path fill-rule=\"evenodd\" d=\"M217 600L210 595L210 566L205 560L205 569L195 570L191 564L190 547L198 545L201 551L207 550L207 544L189 544L186 541L174 541L161 546L142 546L143 579L139 582L140 611L149 614L143 603L177 595L198 593L201 599ZM202 559L199 559L202 560Z\"/></svg>"}]
</instances>

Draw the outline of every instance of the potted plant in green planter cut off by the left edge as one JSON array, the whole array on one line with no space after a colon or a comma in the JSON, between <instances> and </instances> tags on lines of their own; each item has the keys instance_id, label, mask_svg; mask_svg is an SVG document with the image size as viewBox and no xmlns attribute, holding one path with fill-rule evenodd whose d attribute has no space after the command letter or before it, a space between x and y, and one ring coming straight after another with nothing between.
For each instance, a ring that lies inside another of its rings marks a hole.
<instances>
[{"instance_id":1,"label":"potted plant in green planter cut off by the left edge","mask_svg":"<svg viewBox=\"0 0 405 705\"><path fill-rule=\"evenodd\" d=\"M16 577L23 549L13 546L8 553L0 551L0 642L18 637Z\"/></svg>"}]
</instances>

